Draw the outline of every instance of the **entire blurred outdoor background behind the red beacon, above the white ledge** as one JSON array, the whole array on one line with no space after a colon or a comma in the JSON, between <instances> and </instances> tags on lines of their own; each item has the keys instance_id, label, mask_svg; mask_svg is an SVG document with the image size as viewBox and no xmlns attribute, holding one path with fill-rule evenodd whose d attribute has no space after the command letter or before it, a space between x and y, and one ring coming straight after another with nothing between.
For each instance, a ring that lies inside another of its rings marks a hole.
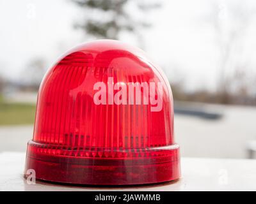
<instances>
[{"instance_id":1,"label":"entire blurred outdoor background behind the red beacon, above the white ledge","mask_svg":"<svg viewBox=\"0 0 256 204\"><path fill-rule=\"evenodd\" d=\"M253 159L255 36L253 0L1 0L0 152L26 151L47 68L79 43L109 38L163 68L182 156Z\"/></svg>"}]
</instances>

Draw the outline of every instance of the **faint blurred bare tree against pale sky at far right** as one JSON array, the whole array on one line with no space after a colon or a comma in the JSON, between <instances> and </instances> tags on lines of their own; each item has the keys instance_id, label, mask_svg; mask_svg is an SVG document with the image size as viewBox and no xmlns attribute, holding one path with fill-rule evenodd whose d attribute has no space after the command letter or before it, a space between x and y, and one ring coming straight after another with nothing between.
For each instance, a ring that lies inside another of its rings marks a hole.
<instances>
[{"instance_id":1,"label":"faint blurred bare tree against pale sky at far right","mask_svg":"<svg viewBox=\"0 0 256 204\"><path fill-rule=\"evenodd\" d=\"M253 8L246 6L244 1L229 4L218 4L214 1L212 12L206 18L214 28L220 53L217 92L221 103L228 103L233 85L232 77L228 74L232 75L237 69L241 69L240 73L246 71L247 64L241 57L244 50L243 40L254 13Z\"/></svg>"}]
</instances>

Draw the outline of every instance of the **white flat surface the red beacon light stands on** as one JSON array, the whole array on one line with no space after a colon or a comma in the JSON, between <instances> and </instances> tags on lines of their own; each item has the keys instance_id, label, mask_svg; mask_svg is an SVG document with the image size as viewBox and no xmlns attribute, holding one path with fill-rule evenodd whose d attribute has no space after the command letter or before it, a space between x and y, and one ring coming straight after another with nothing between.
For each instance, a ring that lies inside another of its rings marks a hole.
<instances>
[{"instance_id":1,"label":"white flat surface the red beacon light stands on","mask_svg":"<svg viewBox=\"0 0 256 204\"><path fill-rule=\"evenodd\" d=\"M0 154L0 191L255 191L256 160L182 158L182 179L136 187L80 187L23 178L25 154Z\"/></svg>"}]
</instances>

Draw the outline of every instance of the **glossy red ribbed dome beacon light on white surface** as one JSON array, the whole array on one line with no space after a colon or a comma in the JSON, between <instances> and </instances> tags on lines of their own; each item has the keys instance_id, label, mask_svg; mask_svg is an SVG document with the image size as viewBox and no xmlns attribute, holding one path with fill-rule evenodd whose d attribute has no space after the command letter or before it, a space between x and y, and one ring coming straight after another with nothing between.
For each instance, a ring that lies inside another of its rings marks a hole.
<instances>
[{"instance_id":1,"label":"glossy red ribbed dome beacon light on white surface","mask_svg":"<svg viewBox=\"0 0 256 204\"><path fill-rule=\"evenodd\" d=\"M173 99L145 53L114 40L70 50L40 85L25 173L93 185L179 179Z\"/></svg>"}]
</instances>

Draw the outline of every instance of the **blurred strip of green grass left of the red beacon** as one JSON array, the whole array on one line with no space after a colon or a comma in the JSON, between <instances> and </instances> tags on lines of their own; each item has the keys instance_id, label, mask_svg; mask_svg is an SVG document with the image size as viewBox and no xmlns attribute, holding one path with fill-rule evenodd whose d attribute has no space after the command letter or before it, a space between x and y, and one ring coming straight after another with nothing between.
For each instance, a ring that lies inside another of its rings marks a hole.
<instances>
[{"instance_id":1,"label":"blurred strip of green grass left of the red beacon","mask_svg":"<svg viewBox=\"0 0 256 204\"><path fill-rule=\"evenodd\" d=\"M8 103L0 96L0 126L33 124L36 106L29 103Z\"/></svg>"}]
</instances>

